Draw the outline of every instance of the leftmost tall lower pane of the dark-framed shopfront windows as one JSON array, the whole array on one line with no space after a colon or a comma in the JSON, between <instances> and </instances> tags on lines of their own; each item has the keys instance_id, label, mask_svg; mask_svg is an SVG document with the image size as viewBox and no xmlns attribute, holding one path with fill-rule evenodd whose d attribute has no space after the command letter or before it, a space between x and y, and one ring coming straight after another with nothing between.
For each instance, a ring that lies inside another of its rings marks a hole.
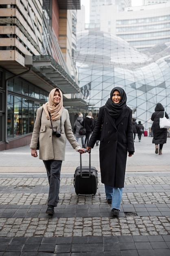
<instances>
[{"instance_id":1,"label":"leftmost tall lower pane of the dark-framed shopfront windows","mask_svg":"<svg viewBox=\"0 0 170 256\"><path fill-rule=\"evenodd\" d=\"M13 96L8 95L8 106L7 106L7 137L8 139L13 138Z\"/></svg>"}]
</instances>

